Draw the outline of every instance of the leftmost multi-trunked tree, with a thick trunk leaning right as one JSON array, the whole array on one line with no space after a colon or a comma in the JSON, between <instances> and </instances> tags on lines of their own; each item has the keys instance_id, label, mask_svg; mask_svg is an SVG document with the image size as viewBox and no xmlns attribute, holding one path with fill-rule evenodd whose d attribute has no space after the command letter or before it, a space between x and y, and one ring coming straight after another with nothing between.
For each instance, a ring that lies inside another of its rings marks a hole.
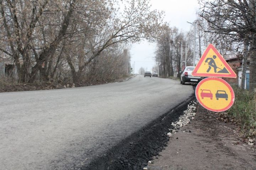
<instances>
[{"instance_id":1,"label":"leftmost multi-trunked tree, with a thick trunk leaning right","mask_svg":"<svg viewBox=\"0 0 256 170\"><path fill-rule=\"evenodd\" d=\"M77 2L0 0L1 33L5 37L0 50L14 59L20 82L33 81L38 70L46 76L46 61L64 38Z\"/></svg>"}]
</instances>

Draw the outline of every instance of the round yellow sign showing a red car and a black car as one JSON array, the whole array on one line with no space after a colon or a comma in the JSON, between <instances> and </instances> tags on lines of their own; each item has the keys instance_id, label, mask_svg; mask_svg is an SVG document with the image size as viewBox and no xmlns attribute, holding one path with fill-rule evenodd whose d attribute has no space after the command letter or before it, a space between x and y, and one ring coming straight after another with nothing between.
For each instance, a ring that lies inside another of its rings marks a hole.
<instances>
[{"instance_id":1,"label":"round yellow sign showing a red car and a black car","mask_svg":"<svg viewBox=\"0 0 256 170\"><path fill-rule=\"evenodd\" d=\"M208 77L197 84L196 98L209 111L224 112L235 101L232 87L223 79Z\"/></svg>"}]
</instances>

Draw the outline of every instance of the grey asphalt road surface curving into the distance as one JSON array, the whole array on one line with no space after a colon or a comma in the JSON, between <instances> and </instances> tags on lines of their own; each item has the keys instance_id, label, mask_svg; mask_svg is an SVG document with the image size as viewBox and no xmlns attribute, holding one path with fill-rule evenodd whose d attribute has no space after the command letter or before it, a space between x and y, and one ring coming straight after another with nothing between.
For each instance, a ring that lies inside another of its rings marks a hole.
<instances>
[{"instance_id":1,"label":"grey asphalt road surface curving into the distance","mask_svg":"<svg viewBox=\"0 0 256 170\"><path fill-rule=\"evenodd\" d=\"M179 81L0 93L0 169L75 169L193 93Z\"/></svg>"}]
</instances>

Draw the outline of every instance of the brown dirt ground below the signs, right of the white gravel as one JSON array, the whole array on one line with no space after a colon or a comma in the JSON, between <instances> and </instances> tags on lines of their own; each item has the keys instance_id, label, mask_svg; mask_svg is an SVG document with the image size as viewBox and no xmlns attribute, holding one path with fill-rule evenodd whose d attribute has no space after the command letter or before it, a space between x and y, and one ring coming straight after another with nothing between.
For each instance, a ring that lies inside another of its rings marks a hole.
<instances>
[{"instance_id":1,"label":"brown dirt ground below the signs, right of the white gravel","mask_svg":"<svg viewBox=\"0 0 256 170\"><path fill-rule=\"evenodd\" d=\"M238 126L220 119L199 106L196 117L173 134L148 170L255 170L255 146L246 143Z\"/></svg>"}]
</instances>

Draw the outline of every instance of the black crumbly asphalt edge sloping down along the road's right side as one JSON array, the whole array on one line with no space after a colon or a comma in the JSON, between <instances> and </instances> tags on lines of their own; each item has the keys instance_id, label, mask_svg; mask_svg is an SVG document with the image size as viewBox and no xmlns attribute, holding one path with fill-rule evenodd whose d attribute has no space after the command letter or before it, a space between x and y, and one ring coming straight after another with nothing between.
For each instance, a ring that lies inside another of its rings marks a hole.
<instances>
[{"instance_id":1,"label":"black crumbly asphalt edge sloping down along the road's right side","mask_svg":"<svg viewBox=\"0 0 256 170\"><path fill-rule=\"evenodd\" d=\"M194 95L190 96L144 128L124 138L106 153L95 158L89 165L81 166L79 170L143 169L149 160L156 157L167 146L169 136L166 134L170 129L174 129L171 123L179 120L188 104L194 99Z\"/></svg>"}]
</instances>

